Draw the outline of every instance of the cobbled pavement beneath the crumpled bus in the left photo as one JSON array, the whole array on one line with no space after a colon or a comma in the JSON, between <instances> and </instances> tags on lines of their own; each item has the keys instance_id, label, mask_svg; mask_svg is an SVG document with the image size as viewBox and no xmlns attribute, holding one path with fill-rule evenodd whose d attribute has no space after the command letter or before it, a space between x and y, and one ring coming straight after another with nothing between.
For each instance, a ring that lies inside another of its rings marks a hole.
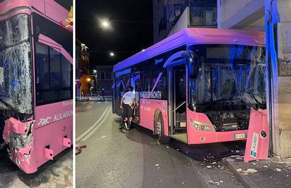
<instances>
[{"instance_id":1,"label":"cobbled pavement beneath the crumpled bus in the left photo","mask_svg":"<svg viewBox=\"0 0 291 188\"><path fill-rule=\"evenodd\" d=\"M31 175L23 173L12 163L6 151L0 151L0 187L73 187L72 149L63 151L54 161L48 161Z\"/></svg>"}]
</instances>

